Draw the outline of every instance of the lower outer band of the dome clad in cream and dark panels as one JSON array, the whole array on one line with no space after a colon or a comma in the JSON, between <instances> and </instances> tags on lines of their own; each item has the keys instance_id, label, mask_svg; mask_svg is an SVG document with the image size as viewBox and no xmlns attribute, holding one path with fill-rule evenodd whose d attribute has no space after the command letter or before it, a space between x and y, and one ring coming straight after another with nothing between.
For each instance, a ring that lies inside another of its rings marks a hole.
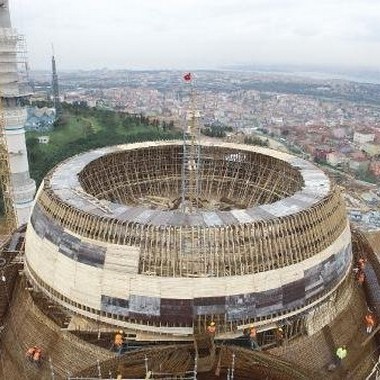
<instances>
[{"instance_id":1,"label":"lower outer band of the dome clad in cream and dark panels","mask_svg":"<svg viewBox=\"0 0 380 380\"><path fill-rule=\"evenodd\" d=\"M319 254L250 275L147 276L138 272L138 247L77 236L49 221L36 206L27 230L26 267L46 289L94 309L94 317L110 313L115 319L192 326L199 316L219 315L226 323L239 324L291 312L325 295L349 269L350 241L347 225Z\"/></svg>"}]
</instances>

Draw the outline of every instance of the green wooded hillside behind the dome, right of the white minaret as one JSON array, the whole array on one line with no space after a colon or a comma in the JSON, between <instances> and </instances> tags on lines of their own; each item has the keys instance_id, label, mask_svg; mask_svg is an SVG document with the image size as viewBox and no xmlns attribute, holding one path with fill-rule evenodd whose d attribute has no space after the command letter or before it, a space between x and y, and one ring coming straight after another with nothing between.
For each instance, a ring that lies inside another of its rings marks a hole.
<instances>
[{"instance_id":1,"label":"green wooded hillside behind the dome, right of the white minaret","mask_svg":"<svg viewBox=\"0 0 380 380\"><path fill-rule=\"evenodd\" d=\"M38 136L48 135L49 144ZM40 184L46 173L62 160L90 149L148 140L181 138L173 125L84 106L65 105L60 121L51 132L27 133L30 175Z\"/></svg>"}]
</instances>

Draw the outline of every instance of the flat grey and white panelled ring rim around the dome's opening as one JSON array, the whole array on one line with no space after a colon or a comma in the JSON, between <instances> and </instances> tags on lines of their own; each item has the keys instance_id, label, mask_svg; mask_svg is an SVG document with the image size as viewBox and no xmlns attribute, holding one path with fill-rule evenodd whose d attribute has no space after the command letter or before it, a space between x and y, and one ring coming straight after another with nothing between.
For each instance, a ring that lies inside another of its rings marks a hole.
<instances>
[{"instance_id":1,"label":"flat grey and white panelled ring rim around the dome's opening","mask_svg":"<svg viewBox=\"0 0 380 380\"><path fill-rule=\"evenodd\" d=\"M145 142L107 147L77 155L53 170L49 180L45 182L45 188L50 187L54 195L64 203L98 217L104 216L121 222L149 223L156 226L198 225L205 227L249 223L295 214L317 204L331 190L328 177L316 166L298 157L261 147L211 142L202 142L202 147L225 149L227 152L225 160L229 159L227 154L231 155L232 150L243 154L253 152L280 160L300 174L302 185L292 195L282 197L272 203L253 205L244 209L233 208L229 211L199 209L193 214L184 214L178 210L152 209L139 204L121 204L104 198L98 199L90 196L80 183L79 175L86 170L86 166L104 156L143 148L181 146L182 144L182 141ZM269 183L267 186L275 186L275 184Z\"/></svg>"}]
</instances>

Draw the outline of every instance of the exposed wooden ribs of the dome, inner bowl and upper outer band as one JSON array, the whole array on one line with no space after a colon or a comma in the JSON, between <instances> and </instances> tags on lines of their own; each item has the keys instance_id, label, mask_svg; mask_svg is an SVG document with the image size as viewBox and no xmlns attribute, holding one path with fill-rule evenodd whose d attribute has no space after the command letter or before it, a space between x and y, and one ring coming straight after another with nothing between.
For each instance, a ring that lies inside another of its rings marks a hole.
<instances>
[{"instance_id":1,"label":"exposed wooden ribs of the dome, inner bowl and upper outer band","mask_svg":"<svg viewBox=\"0 0 380 380\"><path fill-rule=\"evenodd\" d=\"M95 199L146 207L147 200L156 197L167 209L180 197L181 157L177 145L117 152L90 162L79 181ZM233 208L270 204L303 186L296 168L255 152L202 147L201 161L199 199L210 212L220 211L223 200ZM60 199L49 177L38 204L52 221L80 236L139 247L139 273L168 277L222 277L282 268L326 249L347 225L336 188L295 214L211 226L159 225L90 214ZM150 207L157 205L158 201Z\"/></svg>"}]
</instances>

